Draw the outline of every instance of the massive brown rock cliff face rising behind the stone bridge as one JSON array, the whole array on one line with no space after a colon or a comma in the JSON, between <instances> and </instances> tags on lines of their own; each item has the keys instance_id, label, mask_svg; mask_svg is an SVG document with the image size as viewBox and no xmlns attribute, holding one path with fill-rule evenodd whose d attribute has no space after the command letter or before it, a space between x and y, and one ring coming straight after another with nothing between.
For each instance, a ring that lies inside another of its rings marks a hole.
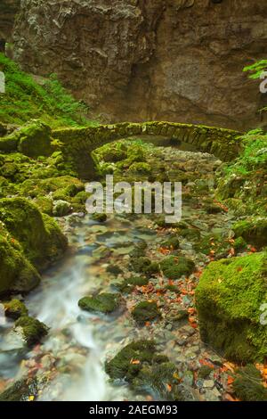
<instances>
[{"instance_id":1,"label":"massive brown rock cliff face rising behind the stone bridge","mask_svg":"<svg viewBox=\"0 0 267 419\"><path fill-rule=\"evenodd\" d=\"M244 129L264 104L242 69L264 57L266 23L265 0L24 0L13 53L103 120Z\"/></svg>"}]
</instances>

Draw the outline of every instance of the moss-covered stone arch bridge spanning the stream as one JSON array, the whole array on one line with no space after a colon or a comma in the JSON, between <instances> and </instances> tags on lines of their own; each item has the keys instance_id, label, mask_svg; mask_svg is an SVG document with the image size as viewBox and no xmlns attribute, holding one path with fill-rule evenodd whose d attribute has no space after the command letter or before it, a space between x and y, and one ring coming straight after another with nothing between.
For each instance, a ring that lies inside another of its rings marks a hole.
<instances>
[{"instance_id":1,"label":"moss-covered stone arch bridge spanning the stream","mask_svg":"<svg viewBox=\"0 0 267 419\"><path fill-rule=\"evenodd\" d=\"M91 153L101 145L131 136L161 136L172 144L192 144L199 152L210 152L223 161L239 155L241 133L231 129L205 127L173 122L119 123L98 127L64 128L53 131L60 140L61 150L80 177L90 179L94 174Z\"/></svg>"}]
</instances>

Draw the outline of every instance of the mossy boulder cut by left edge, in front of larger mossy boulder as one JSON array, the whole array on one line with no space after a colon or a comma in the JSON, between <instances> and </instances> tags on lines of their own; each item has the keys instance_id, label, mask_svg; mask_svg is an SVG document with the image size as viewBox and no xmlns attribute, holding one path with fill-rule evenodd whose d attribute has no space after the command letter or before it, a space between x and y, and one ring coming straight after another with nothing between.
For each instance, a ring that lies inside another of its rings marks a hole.
<instances>
[{"instance_id":1,"label":"mossy boulder cut by left edge, in front of larger mossy boulder","mask_svg":"<svg viewBox=\"0 0 267 419\"><path fill-rule=\"evenodd\" d=\"M0 225L0 294L29 292L39 282L40 275L25 257L20 243Z\"/></svg>"}]
</instances>

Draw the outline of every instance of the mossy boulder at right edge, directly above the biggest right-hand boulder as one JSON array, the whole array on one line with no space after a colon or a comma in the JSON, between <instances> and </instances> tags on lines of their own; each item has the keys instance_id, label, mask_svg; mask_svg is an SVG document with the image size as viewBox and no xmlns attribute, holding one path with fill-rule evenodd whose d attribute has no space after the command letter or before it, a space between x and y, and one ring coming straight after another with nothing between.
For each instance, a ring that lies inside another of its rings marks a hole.
<instances>
[{"instance_id":1,"label":"mossy boulder at right edge, directly above the biggest right-hand boulder","mask_svg":"<svg viewBox=\"0 0 267 419\"><path fill-rule=\"evenodd\" d=\"M242 237L246 242L255 246L267 245L266 217L250 217L238 221L232 229L236 237Z\"/></svg>"}]
</instances>

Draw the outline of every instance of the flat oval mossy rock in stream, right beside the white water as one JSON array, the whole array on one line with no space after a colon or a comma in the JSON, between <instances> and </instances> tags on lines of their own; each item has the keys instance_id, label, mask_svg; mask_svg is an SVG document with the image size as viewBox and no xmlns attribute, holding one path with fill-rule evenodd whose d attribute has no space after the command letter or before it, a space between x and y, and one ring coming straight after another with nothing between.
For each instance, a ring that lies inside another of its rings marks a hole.
<instances>
[{"instance_id":1,"label":"flat oval mossy rock in stream, right beside the white water","mask_svg":"<svg viewBox=\"0 0 267 419\"><path fill-rule=\"evenodd\" d=\"M119 294L102 292L95 296L86 296L78 301L79 308L85 311L112 313L119 307Z\"/></svg>"}]
</instances>

